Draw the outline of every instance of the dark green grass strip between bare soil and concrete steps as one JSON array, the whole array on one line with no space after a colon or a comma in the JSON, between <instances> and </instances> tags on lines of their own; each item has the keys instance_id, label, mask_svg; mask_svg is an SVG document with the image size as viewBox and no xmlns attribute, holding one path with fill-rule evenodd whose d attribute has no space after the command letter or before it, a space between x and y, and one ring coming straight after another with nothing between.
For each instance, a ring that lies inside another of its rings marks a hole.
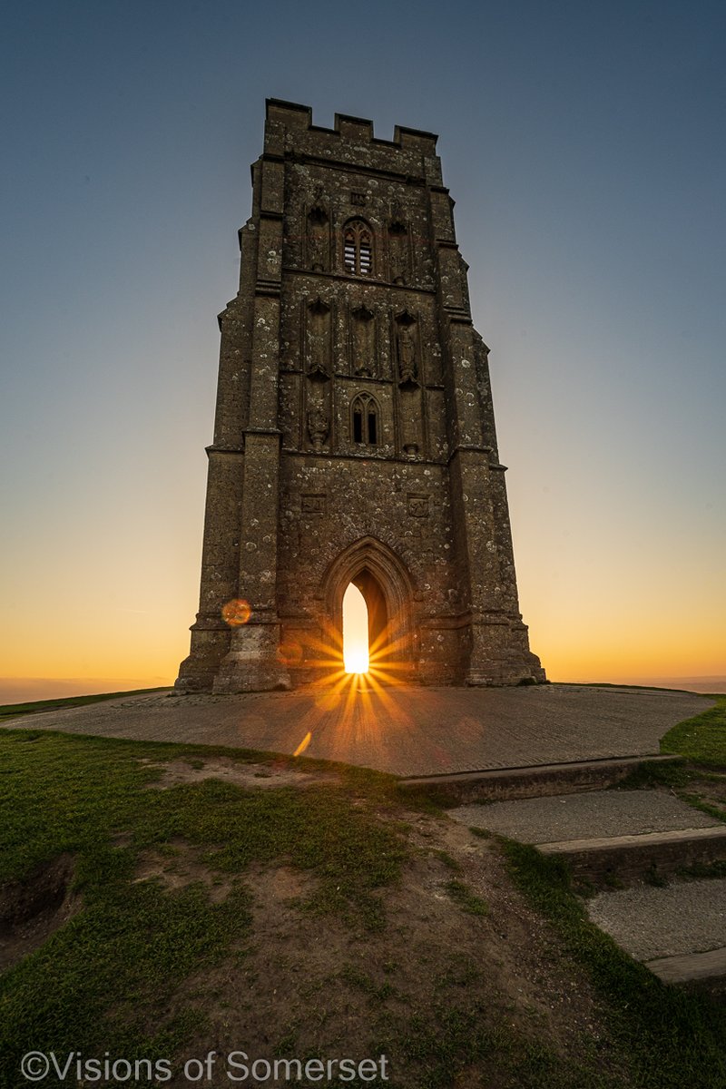
<instances>
[{"instance_id":1,"label":"dark green grass strip between bare soil and concrete steps","mask_svg":"<svg viewBox=\"0 0 726 1089\"><path fill-rule=\"evenodd\" d=\"M568 953L588 971L608 1010L612 1031L642 1089L723 1089L726 1018L723 1002L666 987L593 926L571 890L565 862L502 841L509 872L546 916Z\"/></svg>"}]
</instances>

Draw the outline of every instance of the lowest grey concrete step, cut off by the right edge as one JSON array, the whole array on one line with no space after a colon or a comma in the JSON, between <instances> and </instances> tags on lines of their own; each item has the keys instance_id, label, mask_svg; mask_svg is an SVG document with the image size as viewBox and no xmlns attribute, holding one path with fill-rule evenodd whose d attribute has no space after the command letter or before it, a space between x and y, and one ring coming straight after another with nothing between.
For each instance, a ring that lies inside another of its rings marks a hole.
<instances>
[{"instance_id":1,"label":"lowest grey concrete step, cut off by the right edge","mask_svg":"<svg viewBox=\"0 0 726 1089\"><path fill-rule=\"evenodd\" d=\"M603 892L588 914L665 982L726 986L726 879Z\"/></svg>"}]
</instances>

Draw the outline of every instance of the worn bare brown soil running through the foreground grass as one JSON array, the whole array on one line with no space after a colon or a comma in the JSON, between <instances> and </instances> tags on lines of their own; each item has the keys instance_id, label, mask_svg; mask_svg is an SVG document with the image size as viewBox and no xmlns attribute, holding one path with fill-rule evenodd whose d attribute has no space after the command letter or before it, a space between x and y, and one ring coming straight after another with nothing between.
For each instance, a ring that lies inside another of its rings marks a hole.
<instances>
[{"instance_id":1,"label":"worn bare brown soil running through the foreground grass","mask_svg":"<svg viewBox=\"0 0 726 1089\"><path fill-rule=\"evenodd\" d=\"M232 770L248 771L238 764ZM316 775L292 771L284 778L305 785ZM245 785L267 784L253 778ZM221 1056L206 1084L231 1084L224 1056L235 1051L250 1061L359 1060L377 1057L386 1041L399 1045L408 1038L406 1048L415 1054L416 1026L435 1032L446 1011L476 1011L493 1033L504 1029L569 1059L594 1047L610 1065L604 1016L588 980L515 890L494 841L445 817L399 812L396 821L413 858L399 883L380 890L387 925L379 933L310 910L318 885L307 872L283 865L246 876L254 917L249 941L169 996L168 1015L189 1003L204 1012L185 1052L204 1056L214 1050ZM204 881L214 901L229 893L231 879L206 867L197 848L175 841L173 852L144 855L136 879L160 880L170 889ZM452 898L452 880L485 902L483 917ZM483 1072L480 1065L452 1085L515 1084L506 1070ZM416 1061L398 1066L391 1080L417 1089ZM187 1085L183 1077L169 1084Z\"/></svg>"}]
</instances>

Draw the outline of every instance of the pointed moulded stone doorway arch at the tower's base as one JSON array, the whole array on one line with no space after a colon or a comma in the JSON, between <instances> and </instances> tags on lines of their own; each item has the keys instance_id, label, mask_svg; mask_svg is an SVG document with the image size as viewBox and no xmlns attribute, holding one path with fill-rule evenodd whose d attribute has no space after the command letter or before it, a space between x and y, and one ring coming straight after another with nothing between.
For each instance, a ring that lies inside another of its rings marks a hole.
<instances>
[{"instance_id":1,"label":"pointed moulded stone doorway arch at the tower's base","mask_svg":"<svg viewBox=\"0 0 726 1089\"><path fill-rule=\"evenodd\" d=\"M389 678L410 680L415 668L413 585L396 553L374 537L362 537L329 566L321 587L332 640L342 659L343 597L353 584L368 608L371 669Z\"/></svg>"}]
</instances>

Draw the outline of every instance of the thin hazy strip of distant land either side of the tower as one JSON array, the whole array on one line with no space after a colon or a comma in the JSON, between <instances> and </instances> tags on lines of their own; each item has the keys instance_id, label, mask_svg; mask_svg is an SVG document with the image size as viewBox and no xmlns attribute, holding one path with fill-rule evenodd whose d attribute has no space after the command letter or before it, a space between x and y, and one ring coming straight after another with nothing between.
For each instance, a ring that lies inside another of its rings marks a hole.
<instances>
[{"instance_id":1,"label":"thin hazy strip of distant land either side of the tower","mask_svg":"<svg viewBox=\"0 0 726 1089\"><path fill-rule=\"evenodd\" d=\"M615 675L612 677L550 677L553 684L637 685L645 688L674 688L702 695L726 695L726 674L690 676ZM0 677L0 706L70 699L74 696L99 696L107 693L138 692L141 688L171 688L173 680L151 677ZM485 689L482 689L482 692Z\"/></svg>"}]
</instances>

